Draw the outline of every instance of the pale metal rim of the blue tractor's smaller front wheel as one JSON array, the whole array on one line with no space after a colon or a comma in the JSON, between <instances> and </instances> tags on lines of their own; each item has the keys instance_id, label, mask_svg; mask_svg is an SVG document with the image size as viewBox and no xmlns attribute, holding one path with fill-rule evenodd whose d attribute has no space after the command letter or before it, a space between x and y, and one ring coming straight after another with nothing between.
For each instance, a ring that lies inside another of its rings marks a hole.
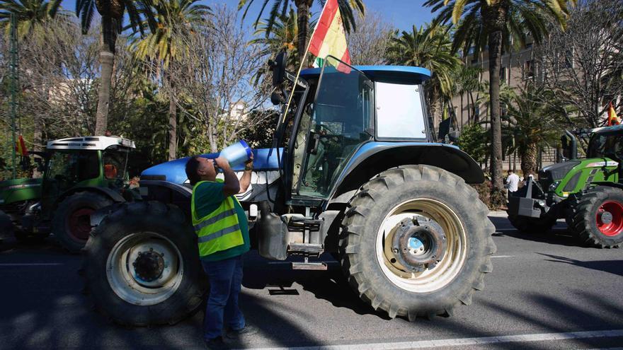
<instances>
[{"instance_id":1,"label":"pale metal rim of the blue tractor's smaller front wheel","mask_svg":"<svg viewBox=\"0 0 623 350\"><path fill-rule=\"evenodd\" d=\"M154 232L127 235L110 250L106 262L110 288L134 305L165 301L177 291L183 272L176 245Z\"/></svg>"}]
</instances>

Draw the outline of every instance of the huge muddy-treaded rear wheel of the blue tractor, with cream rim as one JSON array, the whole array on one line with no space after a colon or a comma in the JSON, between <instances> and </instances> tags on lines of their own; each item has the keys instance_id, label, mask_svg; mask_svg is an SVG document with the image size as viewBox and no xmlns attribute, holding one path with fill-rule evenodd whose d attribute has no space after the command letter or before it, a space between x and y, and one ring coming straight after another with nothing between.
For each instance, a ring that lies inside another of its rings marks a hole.
<instances>
[{"instance_id":1,"label":"huge muddy-treaded rear wheel of the blue tractor, with cream rim","mask_svg":"<svg viewBox=\"0 0 623 350\"><path fill-rule=\"evenodd\" d=\"M496 251L495 227L461 177L404 165L367 182L349 205L342 266L372 308L411 321L450 315L484 288Z\"/></svg>"}]
</instances>

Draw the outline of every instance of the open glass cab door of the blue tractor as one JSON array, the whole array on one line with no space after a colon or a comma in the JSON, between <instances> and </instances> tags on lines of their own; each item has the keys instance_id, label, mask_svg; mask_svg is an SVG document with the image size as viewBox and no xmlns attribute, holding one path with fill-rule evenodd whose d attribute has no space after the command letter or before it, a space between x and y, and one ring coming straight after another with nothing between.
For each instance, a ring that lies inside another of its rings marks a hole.
<instances>
[{"instance_id":1,"label":"open glass cab door of the blue tractor","mask_svg":"<svg viewBox=\"0 0 623 350\"><path fill-rule=\"evenodd\" d=\"M299 127L308 136L302 176L295 174L297 194L328 197L350 156L371 139L373 86L348 64L324 61L314 104Z\"/></svg>"}]
</instances>

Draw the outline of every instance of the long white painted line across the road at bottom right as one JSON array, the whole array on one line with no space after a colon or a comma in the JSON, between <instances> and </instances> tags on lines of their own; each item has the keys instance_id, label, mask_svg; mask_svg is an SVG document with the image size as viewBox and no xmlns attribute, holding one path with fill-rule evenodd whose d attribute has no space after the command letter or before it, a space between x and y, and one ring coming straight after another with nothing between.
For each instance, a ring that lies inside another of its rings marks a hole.
<instances>
[{"instance_id":1,"label":"long white painted line across the road at bottom right","mask_svg":"<svg viewBox=\"0 0 623 350\"><path fill-rule=\"evenodd\" d=\"M613 338L623 337L623 329L588 332L566 333L542 333L542 334L518 334L501 335L498 337L460 338L460 339L435 339L420 340L416 342L394 342L375 344L350 344L350 345L324 345L324 346L300 346L292 348L256 348L252 350L388 350L388 349L424 349L437 348L439 346L469 346L481 344L523 343L523 342L547 342L550 340L568 340L585 338Z\"/></svg>"}]
</instances>

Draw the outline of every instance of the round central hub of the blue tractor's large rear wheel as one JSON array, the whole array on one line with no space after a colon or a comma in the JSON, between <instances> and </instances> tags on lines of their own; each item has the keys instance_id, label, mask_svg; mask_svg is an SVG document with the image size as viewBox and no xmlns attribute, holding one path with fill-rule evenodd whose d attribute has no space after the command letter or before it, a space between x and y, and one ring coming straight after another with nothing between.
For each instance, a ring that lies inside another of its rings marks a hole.
<instances>
[{"instance_id":1,"label":"round central hub of the blue tractor's large rear wheel","mask_svg":"<svg viewBox=\"0 0 623 350\"><path fill-rule=\"evenodd\" d=\"M436 225L435 225L436 226ZM417 218L399 223L391 251L398 262L413 273L433 269L445 255L445 233L440 227L420 224Z\"/></svg>"}]
</instances>

